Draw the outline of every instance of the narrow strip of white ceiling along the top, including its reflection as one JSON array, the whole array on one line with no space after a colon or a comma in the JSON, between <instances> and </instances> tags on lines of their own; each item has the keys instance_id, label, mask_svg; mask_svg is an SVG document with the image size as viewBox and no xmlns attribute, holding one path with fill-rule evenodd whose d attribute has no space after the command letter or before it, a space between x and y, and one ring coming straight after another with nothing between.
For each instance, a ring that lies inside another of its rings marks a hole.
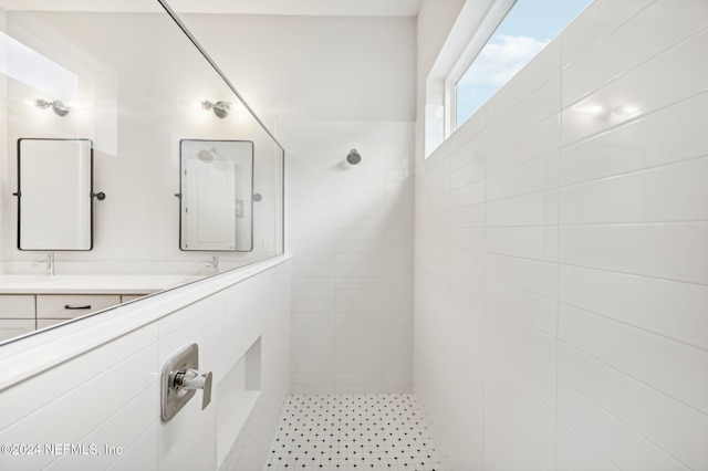
<instances>
[{"instance_id":1,"label":"narrow strip of white ceiling along the top, including its reflection","mask_svg":"<svg viewBox=\"0 0 708 471\"><path fill-rule=\"evenodd\" d=\"M416 17L421 0L167 0L183 13ZM4 10L160 11L157 0L0 0Z\"/></svg>"}]
</instances>

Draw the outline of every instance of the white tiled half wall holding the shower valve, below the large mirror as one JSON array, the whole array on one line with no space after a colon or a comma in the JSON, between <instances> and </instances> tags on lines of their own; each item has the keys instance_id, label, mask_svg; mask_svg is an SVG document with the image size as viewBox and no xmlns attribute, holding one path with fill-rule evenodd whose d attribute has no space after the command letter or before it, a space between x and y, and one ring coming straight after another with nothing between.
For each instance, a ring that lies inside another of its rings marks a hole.
<instances>
[{"instance_id":1,"label":"white tiled half wall holding the shower valve, below the large mirror","mask_svg":"<svg viewBox=\"0 0 708 471\"><path fill-rule=\"evenodd\" d=\"M0 469L261 469L290 387L290 278L288 261L242 269L0 347L0 442L42 451L2 453ZM242 357L259 338L253 401ZM202 410L197 391L163 422L163 364L190 343L200 369L214 373L211 404ZM232 427L242 409L249 420ZM94 444L102 454L46 454L45 443Z\"/></svg>"}]
</instances>

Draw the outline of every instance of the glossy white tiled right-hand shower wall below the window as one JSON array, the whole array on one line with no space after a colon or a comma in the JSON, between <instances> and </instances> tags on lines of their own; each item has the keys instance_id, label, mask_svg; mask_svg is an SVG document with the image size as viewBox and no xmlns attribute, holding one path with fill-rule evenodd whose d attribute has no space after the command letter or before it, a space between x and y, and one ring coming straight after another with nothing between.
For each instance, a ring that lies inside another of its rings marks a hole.
<instances>
[{"instance_id":1,"label":"glossy white tiled right-hand shower wall below the window","mask_svg":"<svg viewBox=\"0 0 708 471\"><path fill-rule=\"evenodd\" d=\"M708 468L707 24L597 0L418 157L415 391L450 468Z\"/></svg>"}]
</instances>

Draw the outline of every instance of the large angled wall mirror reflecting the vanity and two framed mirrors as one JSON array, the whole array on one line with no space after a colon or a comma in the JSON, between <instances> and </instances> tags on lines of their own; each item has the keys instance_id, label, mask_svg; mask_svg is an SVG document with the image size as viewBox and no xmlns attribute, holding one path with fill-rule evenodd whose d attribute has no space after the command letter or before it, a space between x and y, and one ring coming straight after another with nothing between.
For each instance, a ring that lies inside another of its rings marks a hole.
<instances>
[{"instance_id":1,"label":"large angled wall mirror reflecting the vanity and two framed mirrors","mask_svg":"<svg viewBox=\"0 0 708 471\"><path fill-rule=\"evenodd\" d=\"M283 252L284 151L232 84L158 0L65 3L0 0L0 342L85 314L50 290L105 307Z\"/></svg>"}]
</instances>

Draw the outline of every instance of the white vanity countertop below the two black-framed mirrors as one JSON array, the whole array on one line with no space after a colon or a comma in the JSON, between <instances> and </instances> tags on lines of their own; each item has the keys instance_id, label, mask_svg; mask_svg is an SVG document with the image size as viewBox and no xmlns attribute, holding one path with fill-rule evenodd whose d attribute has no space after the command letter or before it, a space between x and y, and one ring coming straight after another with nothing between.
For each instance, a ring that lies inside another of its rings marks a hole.
<instances>
[{"instance_id":1,"label":"white vanity countertop below the two black-framed mirrors","mask_svg":"<svg viewBox=\"0 0 708 471\"><path fill-rule=\"evenodd\" d=\"M202 278L187 275L0 275L0 294L150 294Z\"/></svg>"}]
</instances>

